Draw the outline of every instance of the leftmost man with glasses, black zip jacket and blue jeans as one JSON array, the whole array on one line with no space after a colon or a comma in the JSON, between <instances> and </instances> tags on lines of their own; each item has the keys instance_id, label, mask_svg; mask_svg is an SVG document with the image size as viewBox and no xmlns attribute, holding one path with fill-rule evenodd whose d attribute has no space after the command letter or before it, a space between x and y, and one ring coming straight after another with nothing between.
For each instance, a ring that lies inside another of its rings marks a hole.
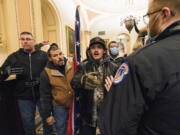
<instances>
[{"instance_id":1,"label":"leftmost man with glasses, black zip jacket and blue jeans","mask_svg":"<svg viewBox=\"0 0 180 135\"><path fill-rule=\"evenodd\" d=\"M35 135L35 112L39 101L40 73L47 63L47 54L35 49L33 35L30 32L20 34L22 48L8 56L1 67L1 80L10 74L16 74L16 96L26 135ZM16 70L21 72L16 72ZM43 116L42 116L43 118ZM44 122L45 134L50 134L50 127ZM49 132L49 133L48 133Z\"/></svg>"}]
</instances>

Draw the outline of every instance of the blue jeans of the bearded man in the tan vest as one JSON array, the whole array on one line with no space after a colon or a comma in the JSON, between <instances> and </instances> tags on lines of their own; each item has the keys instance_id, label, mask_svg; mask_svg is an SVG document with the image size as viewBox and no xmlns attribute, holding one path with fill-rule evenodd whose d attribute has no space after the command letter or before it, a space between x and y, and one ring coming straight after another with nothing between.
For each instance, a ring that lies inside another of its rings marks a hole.
<instances>
[{"instance_id":1,"label":"blue jeans of the bearded man in the tan vest","mask_svg":"<svg viewBox=\"0 0 180 135\"><path fill-rule=\"evenodd\" d=\"M53 107L53 115L56 121L56 131L58 135L66 135L66 125L68 118L68 109L61 106Z\"/></svg>"}]
</instances>

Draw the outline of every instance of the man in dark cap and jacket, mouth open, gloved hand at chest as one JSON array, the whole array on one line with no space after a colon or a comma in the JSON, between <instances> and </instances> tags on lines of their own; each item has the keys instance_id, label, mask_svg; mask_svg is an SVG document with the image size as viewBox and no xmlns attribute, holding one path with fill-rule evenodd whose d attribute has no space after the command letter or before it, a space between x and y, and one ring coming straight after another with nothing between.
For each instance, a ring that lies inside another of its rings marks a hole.
<instances>
[{"instance_id":1,"label":"man in dark cap and jacket, mouth open, gloved hand at chest","mask_svg":"<svg viewBox=\"0 0 180 135\"><path fill-rule=\"evenodd\" d=\"M80 135L96 135L99 109L105 96L104 80L117 69L106 57L105 41L100 37L90 40L88 53L71 81L72 88L80 95Z\"/></svg>"}]
</instances>

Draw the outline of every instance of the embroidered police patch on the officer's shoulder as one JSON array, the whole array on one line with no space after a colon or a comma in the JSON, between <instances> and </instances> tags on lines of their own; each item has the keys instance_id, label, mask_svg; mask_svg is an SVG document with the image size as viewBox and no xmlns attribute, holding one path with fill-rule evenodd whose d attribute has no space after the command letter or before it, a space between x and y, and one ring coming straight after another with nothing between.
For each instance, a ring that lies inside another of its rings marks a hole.
<instances>
[{"instance_id":1,"label":"embroidered police patch on the officer's shoulder","mask_svg":"<svg viewBox=\"0 0 180 135\"><path fill-rule=\"evenodd\" d=\"M116 75L114 77L113 84L118 84L123 81L125 76L129 73L129 67L127 63L121 64L121 66L118 68Z\"/></svg>"}]
</instances>

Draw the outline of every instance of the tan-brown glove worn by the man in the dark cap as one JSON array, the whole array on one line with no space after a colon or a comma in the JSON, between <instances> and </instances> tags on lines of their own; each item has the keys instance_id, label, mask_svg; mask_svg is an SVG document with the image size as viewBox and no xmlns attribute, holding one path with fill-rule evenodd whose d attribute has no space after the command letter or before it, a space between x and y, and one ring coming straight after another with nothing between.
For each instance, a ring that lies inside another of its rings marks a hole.
<instances>
[{"instance_id":1,"label":"tan-brown glove worn by the man in the dark cap","mask_svg":"<svg viewBox=\"0 0 180 135\"><path fill-rule=\"evenodd\" d=\"M100 74L98 72L90 72L81 78L81 83L84 89L94 90L98 85L101 84Z\"/></svg>"}]
</instances>

